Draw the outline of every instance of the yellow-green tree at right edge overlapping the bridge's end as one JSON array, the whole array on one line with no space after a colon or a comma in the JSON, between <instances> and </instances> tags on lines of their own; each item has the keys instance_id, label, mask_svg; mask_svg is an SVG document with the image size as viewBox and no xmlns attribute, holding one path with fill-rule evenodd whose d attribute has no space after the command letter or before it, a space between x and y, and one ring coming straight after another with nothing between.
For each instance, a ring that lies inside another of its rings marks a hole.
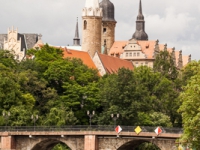
<instances>
[{"instance_id":1,"label":"yellow-green tree at right edge overlapping the bridge's end","mask_svg":"<svg viewBox=\"0 0 200 150\"><path fill-rule=\"evenodd\" d=\"M183 142L188 142L200 148L200 72L192 76L188 80L188 84L184 87L180 95L182 105L179 111L183 117L184 134Z\"/></svg>"}]
</instances>

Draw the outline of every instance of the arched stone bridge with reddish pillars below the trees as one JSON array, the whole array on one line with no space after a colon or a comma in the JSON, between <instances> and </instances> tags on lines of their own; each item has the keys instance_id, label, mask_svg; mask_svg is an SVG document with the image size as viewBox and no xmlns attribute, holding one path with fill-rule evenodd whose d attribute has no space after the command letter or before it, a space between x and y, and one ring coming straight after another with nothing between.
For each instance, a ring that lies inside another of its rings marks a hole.
<instances>
[{"instance_id":1,"label":"arched stone bridge with reddish pillars below the trees","mask_svg":"<svg viewBox=\"0 0 200 150\"><path fill-rule=\"evenodd\" d=\"M133 130L133 127L131 127ZM58 143L64 143L71 150L134 150L144 142L151 142L160 150L175 150L175 140L181 136L181 130L164 131L157 136L147 130L136 134L124 130L117 134L115 131L102 131L93 128L47 128L10 129L0 131L1 150L51 150ZM76 130L76 131L75 131Z\"/></svg>"}]
</instances>

